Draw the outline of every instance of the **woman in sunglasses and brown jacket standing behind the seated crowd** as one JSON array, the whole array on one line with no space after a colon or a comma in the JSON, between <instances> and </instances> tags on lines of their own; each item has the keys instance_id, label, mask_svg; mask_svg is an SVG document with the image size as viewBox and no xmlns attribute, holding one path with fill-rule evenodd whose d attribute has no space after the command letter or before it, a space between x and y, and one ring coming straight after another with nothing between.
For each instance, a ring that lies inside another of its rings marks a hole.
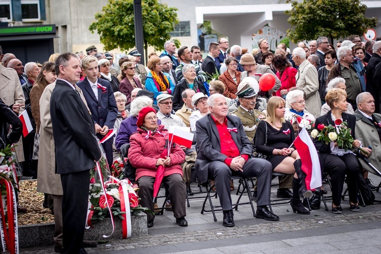
<instances>
[{"instance_id":1,"label":"woman in sunglasses and brown jacket standing behind the seated crowd","mask_svg":"<svg viewBox=\"0 0 381 254\"><path fill-rule=\"evenodd\" d=\"M126 96L126 105L131 103L131 92L135 88L142 88L139 79L135 77L135 62L123 62L120 67L122 80L119 83L119 91Z\"/></svg>"}]
</instances>

